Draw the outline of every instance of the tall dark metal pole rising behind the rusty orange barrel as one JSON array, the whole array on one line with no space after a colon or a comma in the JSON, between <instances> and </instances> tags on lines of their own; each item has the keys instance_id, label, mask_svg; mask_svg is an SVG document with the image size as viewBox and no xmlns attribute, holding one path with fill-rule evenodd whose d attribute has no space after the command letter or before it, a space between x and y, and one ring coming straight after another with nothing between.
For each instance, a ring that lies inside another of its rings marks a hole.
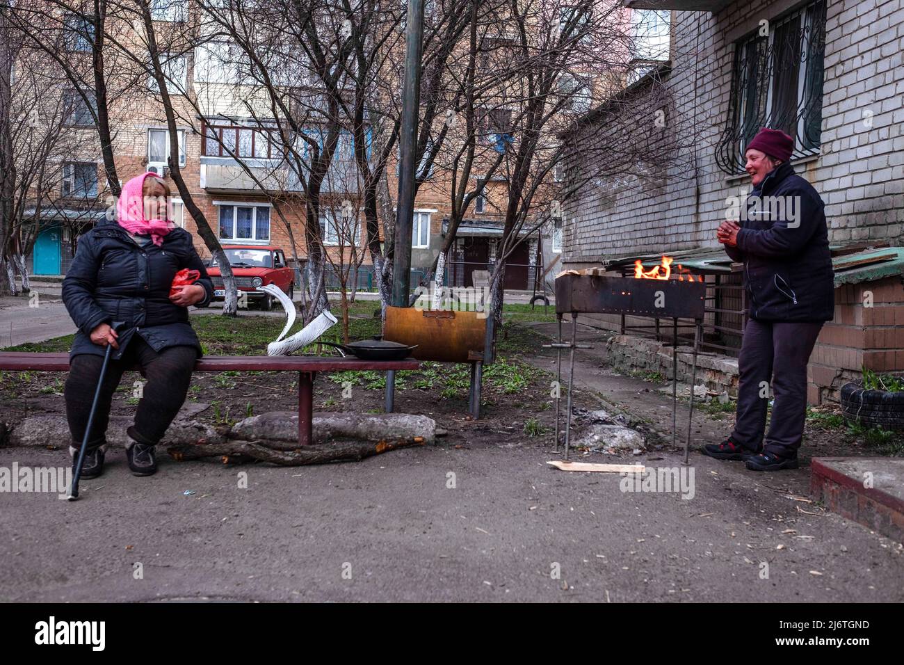
<instances>
[{"instance_id":1,"label":"tall dark metal pole rising behind the rusty orange barrel","mask_svg":"<svg viewBox=\"0 0 904 665\"><path fill-rule=\"evenodd\" d=\"M408 307L411 280L411 227L414 215L415 148L418 143L420 65L424 33L424 0L408 0L405 27L405 84L399 136L399 197L395 249L392 255L392 305Z\"/></svg>"}]
</instances>

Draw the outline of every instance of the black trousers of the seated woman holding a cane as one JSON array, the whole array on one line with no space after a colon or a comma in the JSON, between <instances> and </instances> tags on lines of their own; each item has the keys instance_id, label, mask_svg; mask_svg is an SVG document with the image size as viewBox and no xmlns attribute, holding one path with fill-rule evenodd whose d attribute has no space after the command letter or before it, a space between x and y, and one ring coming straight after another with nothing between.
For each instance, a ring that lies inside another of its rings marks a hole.
<instances>
[{"instance_id":1,"label":"black trousers of the seated woman holding a cane","mask_svg":"<svg viewBox=\"0 0 904 665\"><path fill-rule=\"evenodd\" d=\"M192 370L198 354L195 347L168 347L157 353L140 336L133 336L119 360L110 358L107 375L100 390L98 410L91 425L89 448L96 448L107 442L107 425L110 404L122 375L134 366L140 366L141 375L146 378L142 396L135 413L135 425L130 434L140 443L155 445L163 439L166 428L173 422L188 394L192 381ZM71 360L69 377L66 379L66 418L72 442L79 447L88 427L88 417L94 391L97 389L102 356L80 354Z\"/></svg>"}]
</instances>

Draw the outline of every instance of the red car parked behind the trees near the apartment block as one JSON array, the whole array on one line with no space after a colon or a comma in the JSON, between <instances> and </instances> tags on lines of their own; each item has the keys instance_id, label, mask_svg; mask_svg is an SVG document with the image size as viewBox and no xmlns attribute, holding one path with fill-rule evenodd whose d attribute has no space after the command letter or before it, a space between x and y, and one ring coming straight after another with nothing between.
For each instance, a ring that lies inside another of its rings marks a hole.
<instances>
[{"instance_id":1,"label":"red car parked behind the trees near the apartment block","mask_svg":"<svg viewBox=\"0 0 904 665\"><path fill-rule=\"evenodd\" d=\"M264 309L273 309L275 298L257 290L265 284L276 284L289 299L295 293L295 271L286 264L286 254L273 245L223 245L229 258L236 287L248 294L248 299L259 299ZM225 296L220 268L211 261L207 272L213 280L213 299Z\"/></svg>"}]
</instances>

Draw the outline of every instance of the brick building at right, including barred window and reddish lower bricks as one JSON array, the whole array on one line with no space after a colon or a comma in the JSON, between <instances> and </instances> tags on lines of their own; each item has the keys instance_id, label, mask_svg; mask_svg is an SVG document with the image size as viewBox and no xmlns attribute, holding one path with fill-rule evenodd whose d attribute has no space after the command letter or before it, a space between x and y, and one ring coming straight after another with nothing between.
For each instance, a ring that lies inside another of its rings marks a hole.
<instances>
[{"instance_id":1,"label":"brick building at right, including barred window and reddish lower bricks","mask_svg":"<svg viewBox=\"0 0 904 665\"><path fill-rule=\"evenodd\" d=\"M836 315L812 357L811 402L833 398L863 367L904 370L904 339L894 330L904 321L898 318L904 264L894 249L904 242L904 5L900 0L626 0L626 5L671 10L669 60L644 78L668 91L666 130L683 147L672 166L649 178L602 182L579 192L564 213L564 267L679 253L696 255L711 283L718 271L706 268L720 264L722 283L738 286L739 274L720 252L715 230L729 216L731 197L749 190L740 161L747 141L760 127L782 128L796 138L796 172L826 204L829 240L839 254ZM642 78L623 94L643 95L644 86ZM593 123L595 113L585 124ZM872 246L890 249L884 255L851 254ZM869 305L864 305L866 291ZM731 355L743 316L739 302L726 303L723 308L734 309L734 318L723 313L709 322L733 328L713 328ZM614 318L598 321L607 328L619 324Z\"/></svg>"}]
</instances>

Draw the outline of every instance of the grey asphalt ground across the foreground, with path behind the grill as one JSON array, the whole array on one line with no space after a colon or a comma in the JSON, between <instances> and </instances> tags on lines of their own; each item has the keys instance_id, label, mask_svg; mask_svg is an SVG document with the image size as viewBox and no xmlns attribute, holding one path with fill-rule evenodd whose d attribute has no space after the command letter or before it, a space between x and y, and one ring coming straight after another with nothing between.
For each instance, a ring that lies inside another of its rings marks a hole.
<instances>
[{"instance_id":1,"label":"grey asphalt ground across the foreground, with path behind the grill","mask_svg":"<svg viewBox=\"0 0 904 665\"><path fill-rule=\"evenodd\" d=\"M579 405L599 391L670 430L670 402L648 384L591 354L578 368ZM695 444L722 426L698 419ZM809 502L806 470L756 474L694 452L682 499L553 470L555 457L500 436L309 468L165 459L140 479L113 451L78 502L3 496L0 600L904 601L902 547ZM66 461L0 450L0 467ZM681 456L623 461L680 468Z\"/></svg>"}]
</instances>

